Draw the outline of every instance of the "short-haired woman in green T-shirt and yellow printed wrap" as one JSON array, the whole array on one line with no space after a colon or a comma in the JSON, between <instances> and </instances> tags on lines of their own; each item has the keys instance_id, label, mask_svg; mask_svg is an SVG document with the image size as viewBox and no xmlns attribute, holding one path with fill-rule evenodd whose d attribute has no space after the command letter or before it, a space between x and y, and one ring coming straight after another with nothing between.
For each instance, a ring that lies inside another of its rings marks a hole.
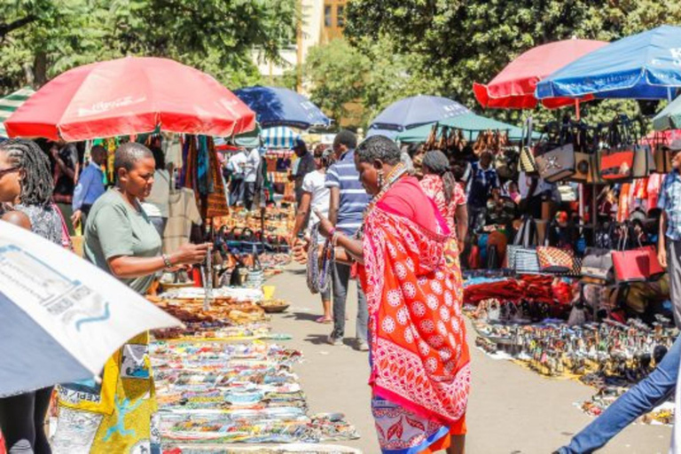
<instances>
[{"instance_id":1,"label":"short-haired woman in green T-shirt and yellow printed wrap","mask_svg":"<svg viewBox=\"0 0 681 454\"><path fill-rule=\"evenodd\" d=\"M160 270L202 262L208 245L184 245L160 254L158 232L140 206L152 189L155 162L144 145L128 143L115 153L117 185L90 209L84 255L140 294ZM159 443L152 428L156 412L148 333L128 341L105 365L101 385L71 384L59 389L59 425L53 447L59 452L150 452ZM87 423L82 421L86 420Z\"/></svg>"}]
</instances>

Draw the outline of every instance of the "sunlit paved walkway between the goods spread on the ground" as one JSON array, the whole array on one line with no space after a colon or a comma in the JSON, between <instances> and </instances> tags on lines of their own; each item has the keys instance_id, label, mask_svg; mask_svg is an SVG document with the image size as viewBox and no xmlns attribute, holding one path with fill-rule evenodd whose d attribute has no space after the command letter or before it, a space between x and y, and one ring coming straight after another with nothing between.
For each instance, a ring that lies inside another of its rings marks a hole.
<instances>
[{"instance_id":1,"label":"sunlit paved walkway between the goods spread on the ground","mask_svg":"<svg viewBox=\"0 0 681 454\"><path fill-rule=\"evenodd\" d=\"M365 453L379 451L369 408L367 356L349 345L325 344L330 325L319 325L317 295L309 294L304 270L292 266L270 279L276 297L292 302L286 313L273 318L274 330L290 333L291 347L302 350L305 360L296 368L307 393L310 411L340 411L359 430L362 438L342 442ZM354 285L353 285L354 287ZM351 292L354 294L354 292ZM356 298L348 301L346 336L354 336ZM471 333L471 330L469 330ZM348 342L348 341L347 341ZM474 344L474 335L469 335ZM348 342L349 344L349 342ZM575 381L547 380L507 361L496 361L473 348L473 390L468 406L468 454L545 454L568 442L571 434L591 418L573 403L593 392ZM629 427L600 452L655 454L669 450L669 427Z\"/></svg>"}]
</instances>

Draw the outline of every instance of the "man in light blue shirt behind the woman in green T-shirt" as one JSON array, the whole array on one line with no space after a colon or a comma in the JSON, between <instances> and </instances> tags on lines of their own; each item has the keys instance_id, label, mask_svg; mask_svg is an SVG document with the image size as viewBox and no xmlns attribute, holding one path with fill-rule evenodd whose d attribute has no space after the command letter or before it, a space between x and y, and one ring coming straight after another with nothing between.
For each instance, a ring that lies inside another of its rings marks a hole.
<instances>
[{"instance_id":1,"label":"man in light blue shirt behind the woman in green T-shirt","mask_svg":"<svg viewBox=\"0 0 681 454\"><path fill-rule=\"evenodd\" d=\"M79 223L85 225L90 208L105 192L104 172L102 172L101 167L106 164L106 149L102 145L95 145L92 147L90 156L90 165L82 171L74 189L72 204L74 215L71 216L74 228Z\"/></svg>"}]
</instances>

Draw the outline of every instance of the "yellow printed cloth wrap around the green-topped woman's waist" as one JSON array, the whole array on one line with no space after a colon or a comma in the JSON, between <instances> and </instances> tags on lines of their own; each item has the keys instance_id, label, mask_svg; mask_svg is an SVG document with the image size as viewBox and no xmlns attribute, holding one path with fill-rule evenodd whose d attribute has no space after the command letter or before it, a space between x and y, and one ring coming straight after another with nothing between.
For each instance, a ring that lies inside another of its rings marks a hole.
<instances>
[{"instance_id":1,"label":"yellow printed cloth wrap around the green-topped woman's waist","mask_svg":"<svg viewBox=\"0 0 681 454\"><path fill-rule=\"evenodd\" d=\"M88 380L58 387L54 454L160 449L148 348L149 334L139 334L109 358L101 384Z\"/></svg>"}]
</instances>

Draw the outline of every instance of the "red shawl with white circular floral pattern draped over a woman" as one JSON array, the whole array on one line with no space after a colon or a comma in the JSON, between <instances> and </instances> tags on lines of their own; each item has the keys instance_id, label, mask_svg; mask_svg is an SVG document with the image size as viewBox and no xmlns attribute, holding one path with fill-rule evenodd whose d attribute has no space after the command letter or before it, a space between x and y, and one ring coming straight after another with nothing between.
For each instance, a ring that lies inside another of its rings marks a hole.
<instances>
[{"instance_id":1,"label":"red shawl with white circular floral pattern draped over a woman","mask_svg":"<svg viewBox=\"0 0 681 454\"><path fill-rule=\"evenodd\" d=\"M405 192L409 198L399 197ZM410 207L395 203L400 200ZM432 211L410 215L419 210ZM428 220L430 226L415 222ZM448 235L433 202L404 178L364 221L360 272L369 306L373 392L442 423L464 416L470 387L463 290L444 262Z\"/></svg>"}]
</instances>

